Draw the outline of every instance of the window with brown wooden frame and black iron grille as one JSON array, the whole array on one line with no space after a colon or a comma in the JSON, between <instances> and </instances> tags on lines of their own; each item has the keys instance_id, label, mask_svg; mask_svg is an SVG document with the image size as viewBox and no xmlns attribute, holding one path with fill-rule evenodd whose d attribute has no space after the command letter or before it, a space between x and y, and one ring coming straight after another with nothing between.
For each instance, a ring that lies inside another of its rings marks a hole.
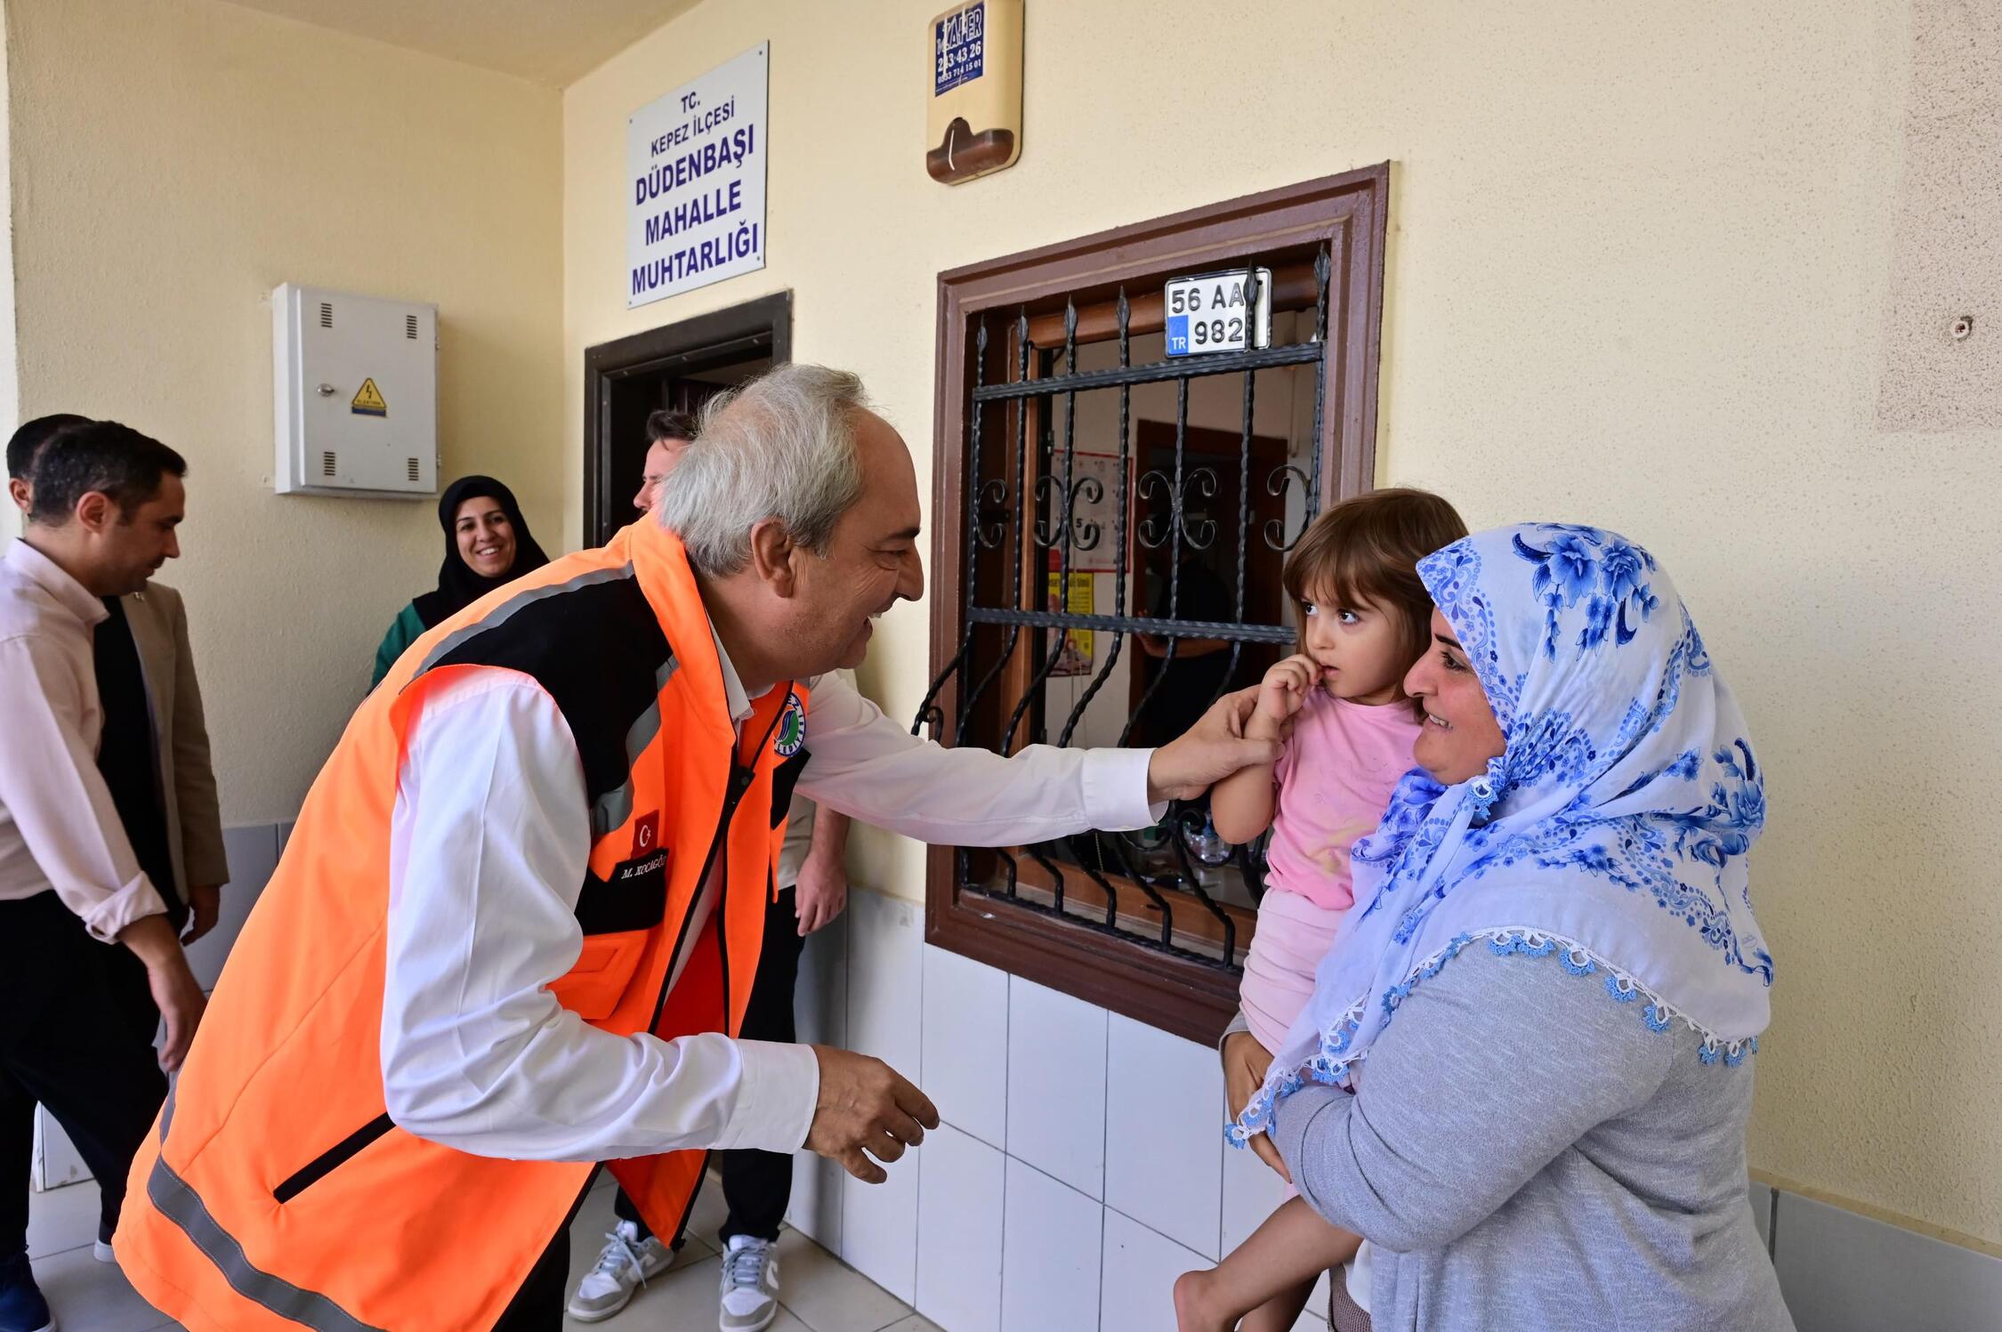
<instances>
[{"instance_id":1,"label":"window with brown wooden frame and black iron grille","mask_svg":"<svg viewBox=\"0 0 2002 1332\"><path fill-rule=\"evenodd\" d=\"M1285 551L1373 479L1387 186L1385 164L939 276L915 731L1163 743L1291 651ZM1269 345L1167 355L1163 288L1191 274L1269 302ZM1261 891L1263 847L1191 801L1137 833L933 847L927 937L1213 1040Z\"/></svg>"}]
</instances>

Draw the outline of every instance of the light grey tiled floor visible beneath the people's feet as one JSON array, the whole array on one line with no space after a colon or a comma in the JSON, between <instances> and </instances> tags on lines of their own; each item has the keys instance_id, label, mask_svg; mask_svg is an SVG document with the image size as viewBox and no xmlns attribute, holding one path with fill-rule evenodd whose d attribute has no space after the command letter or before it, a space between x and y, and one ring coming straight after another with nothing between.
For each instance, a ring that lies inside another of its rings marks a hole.
<instances>
[{"instance_id":1,"label":"light grey tiled floor visible beneath the people's feet","mask_svg":"<svg viewBox=\"0 0 2002 1332\"><path fill-rule=\"evenodd\" d=\"M621 1326L703 1332L717 1326L717 1228L723 1224L721 1190L711 1180L695 1204L689 1244L675 1266L641 1290L627 1312L611 1322L565 1328ZM605 1174L571 1226L571 1282L597 1262L605 1232L613 1228L613 1188ZM34 1278L66 1332L152 1332L172 1328L148 1306L116 1266L90 1256L98 1230L98 1186L92 1182L34 1194L28 1212L28 1256ZM819 1244L787 1228L779 1238L779 1276L785 1310L773 1332L939 1332L883 1288L845 1268Z\"/></svg>"}]
</instances>

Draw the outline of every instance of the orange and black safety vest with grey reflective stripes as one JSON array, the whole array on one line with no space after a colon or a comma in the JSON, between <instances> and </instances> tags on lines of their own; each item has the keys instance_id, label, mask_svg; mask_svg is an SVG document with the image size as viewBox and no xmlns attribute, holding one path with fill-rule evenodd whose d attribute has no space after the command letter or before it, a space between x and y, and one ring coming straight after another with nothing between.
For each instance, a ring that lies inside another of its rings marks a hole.
<instances>
[{"instance_id":1,"label":"orange and black safety vest with grey reflective stripes","mask_svg":"<svg viewBox=\"0 0 2002 1332\"><path fill-rule=\"evenodd\" d=\"M420 637L312 783L132 1162L118 1260L188 1328L490 1328L589 1188L591 1162L472 1156L384 1108L396 775L424 697L480 669L549 691L583 759L585 941L551 993L619 1036L743 1024L807 761L807 691L767 693L739 747L681 541L635 523ZM723 895L669 991L715 855ZM703 1162L673 1152L611 1170L647 1224L675 1236Z\"/></svg>"}]
</instances>

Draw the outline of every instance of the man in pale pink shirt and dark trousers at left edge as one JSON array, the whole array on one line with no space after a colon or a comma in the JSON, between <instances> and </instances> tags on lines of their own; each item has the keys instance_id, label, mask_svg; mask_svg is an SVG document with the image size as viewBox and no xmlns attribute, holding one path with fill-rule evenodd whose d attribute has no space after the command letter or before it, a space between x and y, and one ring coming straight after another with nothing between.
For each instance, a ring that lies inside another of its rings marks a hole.
<instances>
[{"instance_id":1,"label":"man in pale pink shirt and dark trousers at left edge","mask_svg":"<svg viewBox=\"0 0 2002 1332\"><path fill-rule=\"evenodd\" d=\"M180 1066L202 991L98 771L92 631L104 597L180 555L186 463L116 423L70 427L60 445L36 471L26 533L0 559L0 1120L18 1128L48 1106L98 1180L108 1238L166 1096L160 1068ZM90 939L146 965L166 1020L158 1058L120 1016ZM46 1322L14 1174L0 1178L0 1310L40 1306ZM110 1260L102 1240L98 1256Z\"/></svg>"}]
</instances>

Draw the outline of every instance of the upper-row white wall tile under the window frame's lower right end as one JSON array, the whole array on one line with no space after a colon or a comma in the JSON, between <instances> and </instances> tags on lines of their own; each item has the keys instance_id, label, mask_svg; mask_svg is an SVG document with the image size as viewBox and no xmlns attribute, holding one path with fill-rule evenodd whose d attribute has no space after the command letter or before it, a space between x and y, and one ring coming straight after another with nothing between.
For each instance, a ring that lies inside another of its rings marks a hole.
<instances>
[{"instance_id":1,"label":"upper-row white wall tile under the window frame's lower right end","mask_svg":"<svg viewBox=\"0 0 2002 1332\"><path fill-rule=\"evenodd\" d=\"M1215 1262L1223 1206L1217 1052L1113 1014L1105 1070L1105 1206Z\"/></svg>"}]
</instances>

